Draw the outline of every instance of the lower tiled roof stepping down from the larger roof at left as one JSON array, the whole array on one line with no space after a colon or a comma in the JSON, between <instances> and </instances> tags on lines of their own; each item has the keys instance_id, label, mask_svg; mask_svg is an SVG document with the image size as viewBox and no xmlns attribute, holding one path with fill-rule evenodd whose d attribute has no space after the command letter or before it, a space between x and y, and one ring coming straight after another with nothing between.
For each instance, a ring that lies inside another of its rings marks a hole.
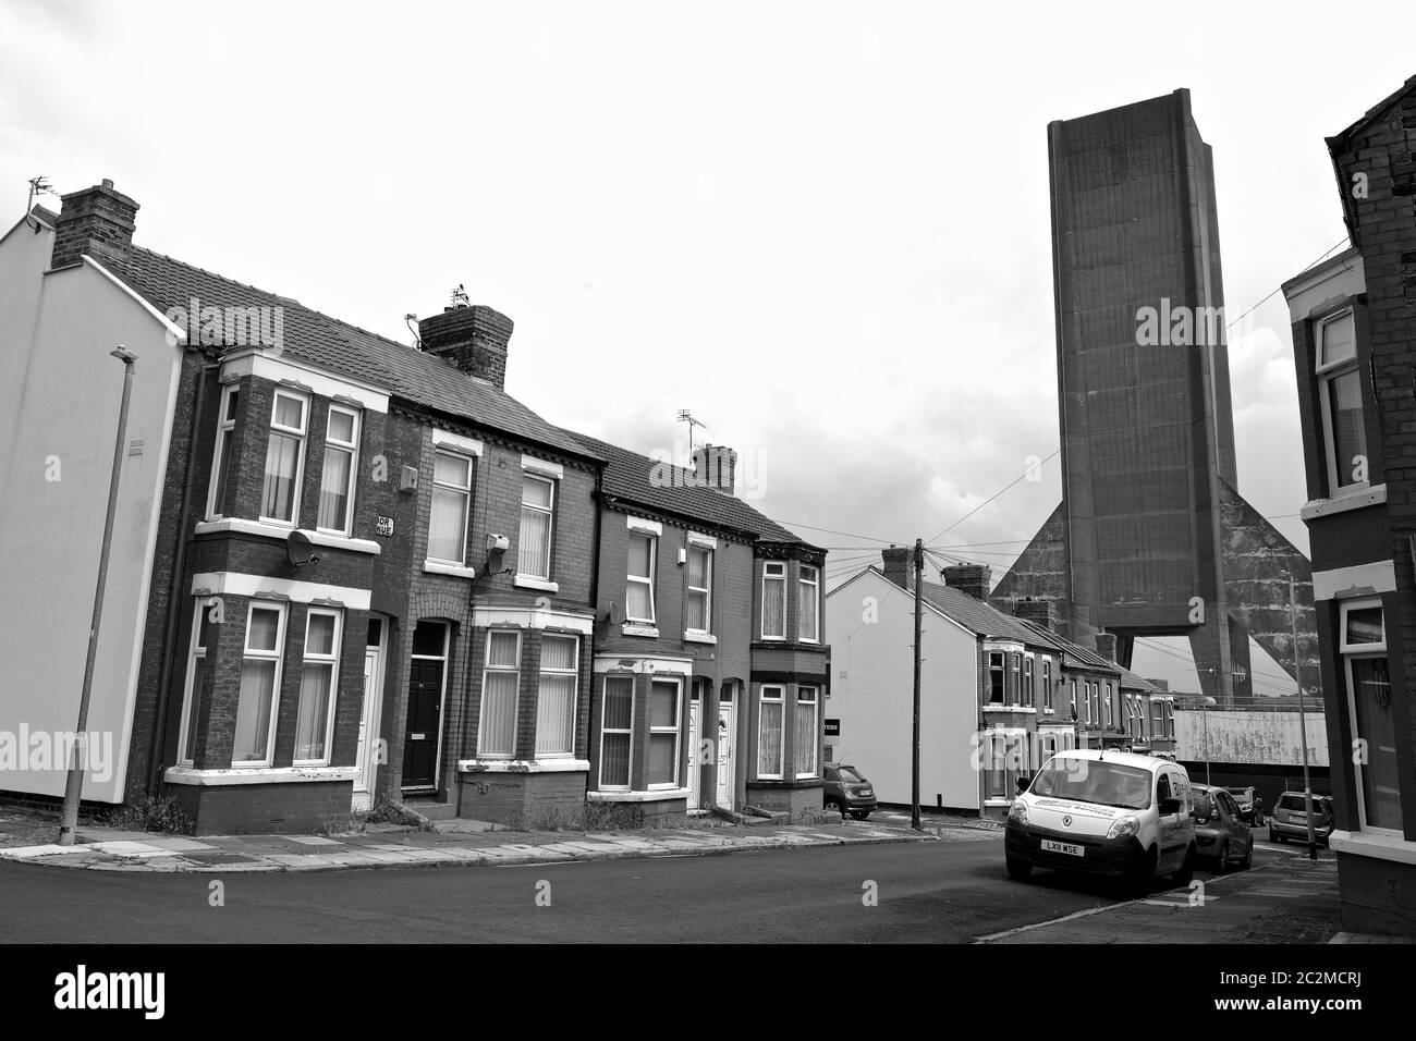
<instances>
[{"instance_id":1,"label":"lower tiled roof stepping down from the larger roof at left","mask_svg":"<svg viewBox=\"0 0 1416 1041\"><path fill-rule=\"evenodd\" d=\"M736 496L692 484L692 470L673 466L671 479L666 486L663 480L651 480L654 467L663 467L666 463L583 433L573 431L564 431L564 433L606 462L603 477L606 496L677 517L750 533L765 542L789 542L811 550L818 548L770 517L753 510Z\"/></svg>"}]
</instances>

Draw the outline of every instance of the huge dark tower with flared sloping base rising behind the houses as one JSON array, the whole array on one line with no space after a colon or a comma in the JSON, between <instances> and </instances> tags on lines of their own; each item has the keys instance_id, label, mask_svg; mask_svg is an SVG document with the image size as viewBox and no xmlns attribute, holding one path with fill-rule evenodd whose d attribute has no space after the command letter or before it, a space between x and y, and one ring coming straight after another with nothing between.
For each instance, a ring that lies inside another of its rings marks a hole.
<instances>
[{"instance_id":1,"label":"huge dark tower with flared sloping base rising behind the houses","mask_svg":"<svg viewBox=\"0 0 1416 1041\"><path fill-rule=\"evenodd\" d=\"M1311 568L1235 490L1219 225L1189 92L1048 126L1063 500L991 599L1068 635L1189 637L1204 693L1252 694L1249 642L1317 688Z\"/></svg>"}]
</instances>

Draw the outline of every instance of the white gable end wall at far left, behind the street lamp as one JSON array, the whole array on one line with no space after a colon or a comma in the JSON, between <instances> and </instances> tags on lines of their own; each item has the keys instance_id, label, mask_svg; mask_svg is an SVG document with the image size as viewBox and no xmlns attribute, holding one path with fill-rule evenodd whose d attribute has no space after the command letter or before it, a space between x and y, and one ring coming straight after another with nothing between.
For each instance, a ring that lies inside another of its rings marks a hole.
<instances>
[{"instance_id":1,"label":"white gable end wall at far left, behind the street lamp","mask_svg":"<svg viewBox=\"0 0 1416 1041\"><path fill-rule=\"evenodd\" d=\"M109 351L125 344L127 442L143 449L123 455L84 786L120 802L181 347L91 263L45 275L51 248L24 224L0 239L0 789L64 793L67 763L31 770L30 753L78 717L123 384Z\"/></svg>"}]
</instances>

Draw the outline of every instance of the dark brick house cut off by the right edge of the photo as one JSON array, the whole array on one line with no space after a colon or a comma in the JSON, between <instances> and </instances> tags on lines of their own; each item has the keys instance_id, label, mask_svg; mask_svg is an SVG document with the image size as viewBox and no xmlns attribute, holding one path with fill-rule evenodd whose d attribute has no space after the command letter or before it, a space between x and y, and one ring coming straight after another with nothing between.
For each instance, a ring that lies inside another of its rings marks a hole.
<instances>
[{"instance_id":1,"label":"dark brick house cut off by the right edge of the photo","mask_svg":"<svg viewBox=\"0 0 1416 1041\"><path fill-rule=\"evenodd\" d=\"M1342 928L1413 935L1416 78L1327 144L1351 248L1283 290L1332 749L1331 846Z\"/></svg>"}]
</instances>

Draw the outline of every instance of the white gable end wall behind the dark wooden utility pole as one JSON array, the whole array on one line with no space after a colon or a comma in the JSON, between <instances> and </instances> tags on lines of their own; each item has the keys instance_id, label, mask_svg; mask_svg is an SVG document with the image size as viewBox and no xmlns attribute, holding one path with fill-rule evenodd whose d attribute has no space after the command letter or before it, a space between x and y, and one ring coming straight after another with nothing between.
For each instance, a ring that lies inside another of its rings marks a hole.
<instances>
[{"instance_id":1,"label":"white gable end wall behind the dark wooden utility pole","mask_svg":"<svg viewBox=\"0 0 1416 1041\"><path fill-rule=\"evenodd\" d=\"M878 620L868 622L874 603ZM826 717L841 735L826 739L835 761L858 766L886 803L910 802L915 601L867 571L826 601L831 633L831 697ZM926 606L920 678L919 797L933 806L978 806L973 735L978 729L977 642Z\"/></svg>"}]
</instances>

